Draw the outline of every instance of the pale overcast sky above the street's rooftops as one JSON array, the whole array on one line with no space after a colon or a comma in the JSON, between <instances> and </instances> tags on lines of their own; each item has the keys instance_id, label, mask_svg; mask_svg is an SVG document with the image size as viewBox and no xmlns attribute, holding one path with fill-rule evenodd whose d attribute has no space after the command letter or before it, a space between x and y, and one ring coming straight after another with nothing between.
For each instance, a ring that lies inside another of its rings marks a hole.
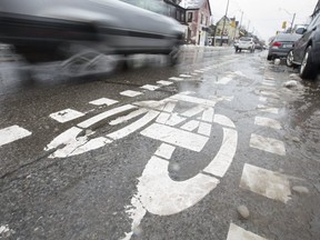
<instances>
[{"instance_id":1,"label":"pale overcast sky above the street's rooftops","mask_svg":"<svg viewBox=\"0 0 320 240\"><path fill-rule=\"evenodd\" d=\"M210 0L213 22L216 23L226 13L228 0ZM318 0L229 0L228 17L241 19L242 26L248 28L260 38L268 40L281 30L283 21L288 27L292 21L293 13L297 13L294 23L306 23L308 17L313 12ZM249 24L250 21L250 24Z\"/></svg>"}]
</instances>

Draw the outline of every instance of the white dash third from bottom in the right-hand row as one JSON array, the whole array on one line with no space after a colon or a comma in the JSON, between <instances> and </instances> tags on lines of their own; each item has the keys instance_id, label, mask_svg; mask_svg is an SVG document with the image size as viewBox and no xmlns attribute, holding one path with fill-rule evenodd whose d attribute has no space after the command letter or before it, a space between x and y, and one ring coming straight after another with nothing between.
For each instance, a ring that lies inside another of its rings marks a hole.
<instances>
[{"instance_id":1,"label":"white dash third from bottom in the right-hand row","mask_svg":"<svg viewBox=\"0 0 320 240\"><path fill-rule=\"evenodd\" d=\"M250 147L274 154L286 156L284 143L273 138L264 138L252 133L250 138Z\"/></svg>"}]
</instances>

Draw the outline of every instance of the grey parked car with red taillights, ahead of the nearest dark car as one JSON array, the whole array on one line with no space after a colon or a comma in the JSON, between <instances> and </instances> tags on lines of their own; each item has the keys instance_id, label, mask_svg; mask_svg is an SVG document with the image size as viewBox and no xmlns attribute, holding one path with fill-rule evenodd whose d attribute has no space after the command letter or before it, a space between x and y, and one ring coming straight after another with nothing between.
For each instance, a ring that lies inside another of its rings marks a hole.
<instances>
[{"instance_id":1,"label":"grey parked car with red taillights, ahead of the nearest dark car","mask_svg":"<svg viewBox=\"0 0 320 240\"><path fill-rule=\"evenodd\" d=\"M267 60L273 60L276 58L287 58L288 52L293 48L293 43L301 38L296 33L279 33L270 42Z\"/></svg>"}]
</instances>

